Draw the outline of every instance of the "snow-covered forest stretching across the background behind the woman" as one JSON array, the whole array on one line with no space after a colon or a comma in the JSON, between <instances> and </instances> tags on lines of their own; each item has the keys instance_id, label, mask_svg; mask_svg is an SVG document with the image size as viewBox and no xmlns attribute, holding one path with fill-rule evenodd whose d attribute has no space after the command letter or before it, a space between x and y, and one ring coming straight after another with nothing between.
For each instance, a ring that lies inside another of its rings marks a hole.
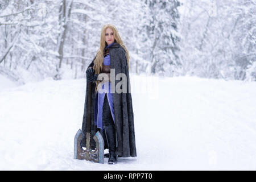
<instances>
[{"instance_id":1,"label":"snow-covered forest stretching across the background behind the woman","mask_svg":"<svg viewBox=\"0 0 256 182\"><path fill-rule=\"evenodd\" d=\"M106 23L131 73L256 80L255 0L0 0L0 74L83 78Z\"/></svg>"}]
</instances>

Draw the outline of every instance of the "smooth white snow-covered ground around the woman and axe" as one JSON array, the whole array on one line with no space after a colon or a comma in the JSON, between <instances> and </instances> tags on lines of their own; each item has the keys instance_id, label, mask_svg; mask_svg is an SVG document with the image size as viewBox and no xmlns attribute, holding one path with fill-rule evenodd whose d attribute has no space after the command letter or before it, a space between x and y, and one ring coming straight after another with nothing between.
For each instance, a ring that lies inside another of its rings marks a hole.
<instances>
[{"instance_id":1,"label":"smooth white snow-covered ground around the woman and axe","mask_svg":"<svg viewBox=\"0 0 256 182\"><path fill-rule=\"evenodd\" d=\"M85 81L0 79L1 170L256 170L256 82L131 76L138 156L109 165L73 159Z\"/></svg>"}]
</instances>

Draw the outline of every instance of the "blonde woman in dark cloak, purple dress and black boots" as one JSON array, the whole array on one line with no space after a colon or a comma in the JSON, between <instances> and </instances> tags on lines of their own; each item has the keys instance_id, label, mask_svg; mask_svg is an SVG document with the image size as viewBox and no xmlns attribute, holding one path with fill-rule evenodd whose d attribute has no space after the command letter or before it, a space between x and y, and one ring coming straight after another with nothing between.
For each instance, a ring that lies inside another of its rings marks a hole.
<instances>
[{"instance_id":1,"label":"blonde woman in dark cloak, purple dress and black boots","mask_svg":"<svg viewBox=\"0 0 256 182\"><path fill-rule=\"evenodd\" d=\"M92 97L92 136L100 131L109 148L108 163L118 156L137 156L133 104L130 93L129 51L112 24L102 27L100 48L86 69L86 85L92 83L91 96L86 86L82 147L86 146L87 98ZM92 149L95 143L92 142Z\"/></svg>"}]
</instances>

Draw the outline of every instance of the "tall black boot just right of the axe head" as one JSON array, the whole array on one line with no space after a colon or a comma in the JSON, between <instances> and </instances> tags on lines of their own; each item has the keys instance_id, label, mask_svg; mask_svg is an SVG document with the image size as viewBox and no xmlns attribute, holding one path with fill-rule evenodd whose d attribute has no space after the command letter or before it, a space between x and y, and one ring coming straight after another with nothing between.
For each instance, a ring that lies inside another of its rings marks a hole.
<instances>
[{"instance_id":1,"label":"tall black boot just right of the axe head","mask_svg":"<svg viewBox=\"0 0 256 182\"><path fill-rule=\"evenodd\" d=\"M114 125L104 126L106 139L109 146L109 161L108 164L116 164L118 155L115 154L116 141L115 141L115 128Z\"/></svg>"}]
</instances>

